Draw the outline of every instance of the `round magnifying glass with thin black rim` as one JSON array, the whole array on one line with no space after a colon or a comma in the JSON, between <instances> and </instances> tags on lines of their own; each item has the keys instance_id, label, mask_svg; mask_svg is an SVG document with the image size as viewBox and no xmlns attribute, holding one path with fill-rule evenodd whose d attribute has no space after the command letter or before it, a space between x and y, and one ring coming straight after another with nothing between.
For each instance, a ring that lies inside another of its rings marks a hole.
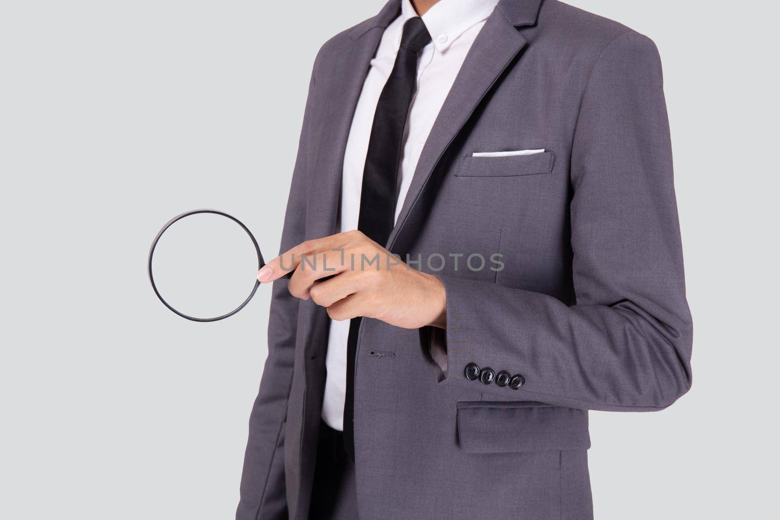
<instances>
[{"instance_id":1,"label":"round magnifying glass with thin black rim","mask_svg":"<svg viewBox=\"0 0 780 520\"><path fill-rule=\"evenodd\" d=\"M242 310L257 292L257 271L264 265L260 246L243 222L202 209L176 215L161 228L151 243L147 270L154 294L168 309L206 322Z\"/></svg>"}]
</instances>

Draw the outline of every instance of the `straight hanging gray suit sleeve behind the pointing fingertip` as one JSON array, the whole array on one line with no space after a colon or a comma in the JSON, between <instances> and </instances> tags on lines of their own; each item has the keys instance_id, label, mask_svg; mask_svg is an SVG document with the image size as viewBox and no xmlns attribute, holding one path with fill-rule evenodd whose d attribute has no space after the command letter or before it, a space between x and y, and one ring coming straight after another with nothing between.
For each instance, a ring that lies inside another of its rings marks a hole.
<instances>
[{"instance_id":1,"label":"straight hanging gray suit sleeve behind the pointing fingertip","mask_svg":"<svg viewBox=\"0 0 780 520\"><path fill-rule=\"evenodd\" d=\"M306 149L313 92L314 73L309 83L303 129L287 201L281 251L303 242L305 233ZM260 391L249 420L249 440L244 455L241 499L236 520L287 518L284 472L285 416L293 380L299 302L300 300L293 298L287 290L286 279L274 282L268 320L268 357L265 360Z\"/></svg>"}]
</instances>

